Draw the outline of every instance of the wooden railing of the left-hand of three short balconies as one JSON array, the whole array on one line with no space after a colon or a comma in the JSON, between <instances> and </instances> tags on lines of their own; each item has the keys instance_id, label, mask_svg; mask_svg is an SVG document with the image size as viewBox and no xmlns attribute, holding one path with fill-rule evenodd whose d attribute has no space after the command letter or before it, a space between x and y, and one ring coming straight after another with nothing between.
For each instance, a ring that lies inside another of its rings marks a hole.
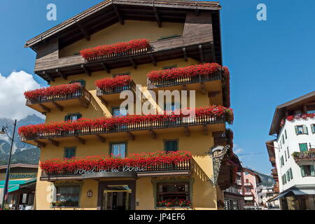
<instances>
[{"instance_id":1,"label":"wooden railing of the left-hand of three short balconies","mask_svg":"<svg viewBox=\"0 0 315 224\"><path fill-rule=\"evenodd\" d=\"M48 96L41 96L35 99L27 99L27 106L32 106L34 104L45 104L50 102L61 102L69 99L79 99L84 106L88 106L92 99L92 94L81 87L78 91L67 94L51 94Z\"/></svg>"}]
</instances>

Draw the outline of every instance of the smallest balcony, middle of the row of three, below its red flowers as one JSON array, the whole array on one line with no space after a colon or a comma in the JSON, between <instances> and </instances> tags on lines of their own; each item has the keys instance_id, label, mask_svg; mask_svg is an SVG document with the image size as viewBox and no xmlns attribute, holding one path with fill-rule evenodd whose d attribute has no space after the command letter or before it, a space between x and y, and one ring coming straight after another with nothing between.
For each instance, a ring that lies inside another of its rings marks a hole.
<instances>
[{"instance_id":1,"label":"smallest balcony, middle of the row of three, below its red flowers","mask_svg":"<svg viewBox=\"0 0 315 224\"><path fill-rule=\"evenodd\" d=\"M124 90L130 90L135 94L136 84L134 83L134 80L131 80L127 85L120 85L108 89L97 87L97 97L99 97L103 104L107 105L109 102L117 102L119 100L120 92L123 92Z\"/></svg>"}]
</instances>

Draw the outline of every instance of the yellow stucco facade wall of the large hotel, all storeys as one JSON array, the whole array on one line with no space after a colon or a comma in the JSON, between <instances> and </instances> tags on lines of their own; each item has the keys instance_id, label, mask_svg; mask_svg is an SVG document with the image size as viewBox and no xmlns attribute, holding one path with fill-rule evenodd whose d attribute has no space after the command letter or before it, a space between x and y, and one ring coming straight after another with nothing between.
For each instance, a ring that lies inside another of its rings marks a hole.
<instances>
[{"instance_id":1,"label":"yellow stucco facade wall of the large hotel, all storeys","mask_svg":"<svg viewBox=\"0 0 315 224\"><path fill-rule=\"evenodd\" d=\"M161 36L170 36L173 34L182 34L183 24L163 23L162 28L158 28L156 22L137 22L126 21L124 26L119 24L113 25L107 29L99 31L99 33L91 36L91 41L81 40L77 43L69 45L60 50L61 56L72 55L73 52L78 52L83 48L92 47L95 45L102 45L108 43L115 43L118 41L129 41L134 38L149 38L151 41L157 40ZM197 64L195 59L188 58L188 62L183 59L174 59L164 62L158 62L158 66L153 64L139 65L138 69L133 67L125 67L120 69L112 69L111 73L105 71L93 72L92 76L86 74L78 74L76 76L69 76L68 80L56 78L55 82L51 82L52 86L64 83L70 83L71 80L83 79L86 81L86 89L92 94L96 104L84 109L80 105L64 106L64 111L52 109L46 116L46 122L64 120L64 116L68 113L80 112L83 118L97 118L102 116L111 116L111 106L119 106L120 101L110 102L108 106L104 106L102 102L96 97L95 80L104 77L113 77L116 73L130 72L132 79L136 84L144 86L146 90L147 78L146 74L149 71L160 70L164 66L177 65L178 67L189 66ZM221 90L221 82L211 85L211 89L207 91ZM209 98L207 94L202 94L200 91L196 92L196 107L209 106L209 104L223 104L222 94ZM189 106L189 104L188 104ZM135 140L128 138L126 133L108 134L106 135L106 142L102 143L94 136L85 136L85 145L80 144L73 138L58 139L59 146L47 144L45 148L41 148L40 160L47 160L51 158L63 158L65 146L76 146L76 156L86 155L108 155L109 146L112 141L127 141L127 153L141 153L141 152L155 152L163 151L165 139L179 139L179 150L190 151L194 155L196 162L193 165L191 179L193 183L193 207L195 209L216 209L216 188L211 186L209 179L213 176L212 160L207 155L209 148L214 145L214 139L211 132L224 131L225 125L209 125L208 135L204 135L202 127L191 127L190 137L186 137L183 128L156 130L157 139L152 139L151 134L146 132L133 132ZM40 181L41 169L38 169L38 181L36 183L36 209L51 209L50 202L52 201L52 187L53 183L48 181ZM60 182L60 181L58 181ZM69 182L71 184L71 181ZM140 178L136 182L136 201L139 202L137 209L155 209L154 193L151 178ZM93 191L93 196L87 198L87 190ZM97 209L97 195L98 182L93 180L81 181L80 193L80 208L76 209ZM73 208L69 208L73 209Z\"/></svg>"}]
</instances>

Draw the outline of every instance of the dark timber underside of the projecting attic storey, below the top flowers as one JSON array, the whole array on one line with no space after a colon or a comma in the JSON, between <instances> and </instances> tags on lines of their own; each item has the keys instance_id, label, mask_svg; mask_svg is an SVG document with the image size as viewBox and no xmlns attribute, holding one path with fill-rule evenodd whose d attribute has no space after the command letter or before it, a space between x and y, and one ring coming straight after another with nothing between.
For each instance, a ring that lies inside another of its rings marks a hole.
<instances>
[{"instance_id":1,"label":"dark timber underside of the projecting attic storey, below the top flowers","mask_svg":"<svg viewBox=\"0 0 315 224\"><path fill-rule=\"evenodd\" d=\"M169 48L165 50L149 51L142 55L116 57L111 59L101 59L98 61L87 62L80 55L72 56L71 59L75 64L70 66L55 66L52 69L44 71L35 71L38 76L50 82L55 78L66 78L67 76L77 75L80 73L87 73L90 76L95 71L106 71L109 73L111 69L118 69L127 66L134 66L137 68L140 64L153 63L156 66L157 62L169 59L183 58L187 60L188 57L200 60L201 62L214 62L212 52L214 50L214 43L201 43L195 45L188 45L178 48Z\"/></svg>"}]
</instances>

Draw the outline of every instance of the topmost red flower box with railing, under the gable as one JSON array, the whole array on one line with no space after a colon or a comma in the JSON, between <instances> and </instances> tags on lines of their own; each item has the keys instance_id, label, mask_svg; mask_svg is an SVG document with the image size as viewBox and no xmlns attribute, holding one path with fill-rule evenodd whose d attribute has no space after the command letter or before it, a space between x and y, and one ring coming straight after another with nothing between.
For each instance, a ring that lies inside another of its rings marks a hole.
<instances>
[{"instance_id":1,"label":"topmost red flower box with railing, under the gable","mask_svg":"<svg viewBox=\"0 0 315 224\"><path fill-rule=\"evenodd\" d=\"M150 48L147 39L136 39L128 42L101 45L95 48L80 50L80 55L87 60L97 59L100 56L116 57L121 55L132 55L137 52L146 52Z\"/></svg>"}]
</instances>

